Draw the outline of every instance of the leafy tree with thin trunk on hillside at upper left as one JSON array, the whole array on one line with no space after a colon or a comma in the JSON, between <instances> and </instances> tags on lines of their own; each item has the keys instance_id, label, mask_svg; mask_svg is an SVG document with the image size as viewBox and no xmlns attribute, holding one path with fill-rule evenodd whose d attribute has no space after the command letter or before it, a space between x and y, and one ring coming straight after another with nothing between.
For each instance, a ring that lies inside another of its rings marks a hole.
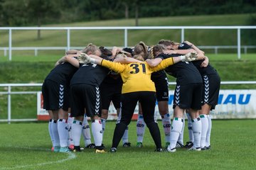
<instances>
[{"instance_id":1,"label":"leafy tree with thin trunk on hillside at upper left","mask_svg":"<svg viewBox=\"0 0 256 170\"><path fill-rule=\"evenodd\" d=\"M54 18L55 21L60 17L60 8L58 1L52 0L27 0L26 1L27 15L32 22L36 22L37 26L50 18ZM38 39L41 39L41 31L38 30Z\"/></svg>"}]
</instances>

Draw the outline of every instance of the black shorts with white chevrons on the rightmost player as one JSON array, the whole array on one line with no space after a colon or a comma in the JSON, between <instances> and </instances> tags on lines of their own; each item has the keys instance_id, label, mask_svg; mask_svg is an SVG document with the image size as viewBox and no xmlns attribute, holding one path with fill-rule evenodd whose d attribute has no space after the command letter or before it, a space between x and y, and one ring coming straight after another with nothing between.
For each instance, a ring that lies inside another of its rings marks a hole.
<instances>
[{"instance_id":1,"label":"black shorts with white chevrons on the rightmost player","mask_svg":"<svg viewBox=\"0 0 256 170\"><path fill-rule=\"evenodd\" d=\"M207 103L211 106L210 110L215 109L218 104L220 92L220 77L218 74L203 75L202 104Z\"/></svg>"}]
</instances>

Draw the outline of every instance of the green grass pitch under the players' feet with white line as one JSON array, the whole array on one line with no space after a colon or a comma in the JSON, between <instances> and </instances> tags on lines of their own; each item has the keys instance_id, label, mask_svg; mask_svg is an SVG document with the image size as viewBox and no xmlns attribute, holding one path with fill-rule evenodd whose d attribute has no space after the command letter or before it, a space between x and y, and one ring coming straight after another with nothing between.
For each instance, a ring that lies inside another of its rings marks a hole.
<instances>
[{"instance_id":1,"label":"green grass pitch under the players' feet with white line","mask_svg":"<svg viewBox=\"0 0 256 170\"><path fill-rule=\"evenodd\" d=\"M48 123L0 124L0 169L255 169L256 120L213 120L211 149L155 153L146 129L144 147L136 148L136 123L129 125L131 148L119 146L117 153L95 154L50 152ZM111 147L115 122L107 122L103 142ZM159 121L161 133L161 121ZM188 140L185 128L184 142ZM164 140L162 134L161 139ZM164 145L164 141L162 143ZM81 146L83 141L81 140Z\"/></svg>"}]
</instances>

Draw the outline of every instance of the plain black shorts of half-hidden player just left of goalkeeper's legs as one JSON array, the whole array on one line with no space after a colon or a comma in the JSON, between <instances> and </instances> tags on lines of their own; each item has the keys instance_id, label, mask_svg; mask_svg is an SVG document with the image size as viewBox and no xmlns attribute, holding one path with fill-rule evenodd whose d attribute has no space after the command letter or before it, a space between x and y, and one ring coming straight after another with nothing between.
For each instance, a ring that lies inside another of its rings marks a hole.
<instances>
[{"instance_id":1,"label":"plain black shorts of half-hidden player just left of goalkeeper's legs","mask_svg":"<svg viewBox=\"0 0 256 170\"><path fill-rule=\"evenodd\" d=\"M114 104L114 108L121 107L122 84L105 84L100 85L100 94L102 100L102 109L108 110L110 102Z\"/></svg>"}]
</instances>

